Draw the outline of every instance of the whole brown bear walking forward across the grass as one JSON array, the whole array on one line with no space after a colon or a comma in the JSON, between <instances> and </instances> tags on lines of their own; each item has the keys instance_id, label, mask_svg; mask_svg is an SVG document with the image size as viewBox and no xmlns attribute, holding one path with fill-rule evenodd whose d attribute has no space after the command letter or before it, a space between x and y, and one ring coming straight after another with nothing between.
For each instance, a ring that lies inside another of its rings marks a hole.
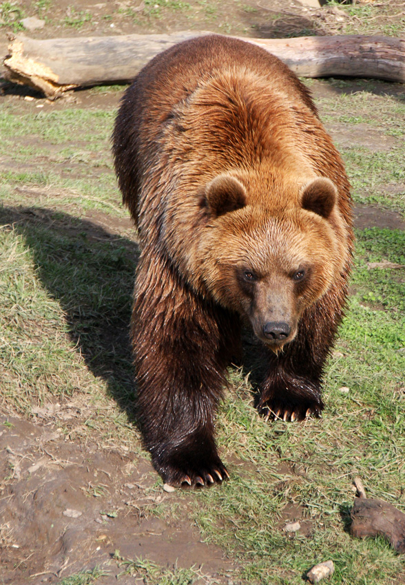
<instances>
[{"instance_id":1,"label":"whole brown bear walking forward across the grass","mask_svg":"<svg viewBox=\"0 0 405 585\"><path fill-rule=\"evenodd\" d=\"M152 59L113 135L138 227L132 343L138 417L172 485L229 477L214 440L248 325L261 414L318 416L353 242L349 182L308 90L278 58L209 35Z\"/></svg>"}]
</instances>

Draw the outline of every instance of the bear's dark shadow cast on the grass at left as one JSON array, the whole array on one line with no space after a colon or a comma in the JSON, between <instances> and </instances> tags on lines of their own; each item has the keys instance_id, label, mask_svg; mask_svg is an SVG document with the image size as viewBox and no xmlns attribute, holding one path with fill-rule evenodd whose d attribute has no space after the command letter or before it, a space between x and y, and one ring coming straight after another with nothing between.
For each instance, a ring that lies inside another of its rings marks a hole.
<instances>
[{"instance_id":1,"label":"bear's dark shadow cast on the grass at left","mask_svg":"<svg viewBox=\"0 0 405 585\"><path fill-rule=\"evenodd\" d=\"M38 207L0 208L0 222L23 237L87 368L107 382L114 400L136 422L129 343L136 243L91 221Z\"/></svg>"}]
</instances>

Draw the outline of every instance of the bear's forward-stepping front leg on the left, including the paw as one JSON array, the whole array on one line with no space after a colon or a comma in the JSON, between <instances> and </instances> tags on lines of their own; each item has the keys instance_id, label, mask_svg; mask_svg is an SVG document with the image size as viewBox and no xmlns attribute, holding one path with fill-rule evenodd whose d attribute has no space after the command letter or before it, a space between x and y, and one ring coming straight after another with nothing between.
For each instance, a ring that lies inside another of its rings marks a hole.
<instances>
[{"instance_id":1,"label":"bear's forward-stepping front leg on the left, including the paw","mask_svg":"<svg viewBox=\"0 0 405 585\"><path fill-rule=\"evenodd\" d=\"M153 465L170 485L229 477L215 445L214 416L238 326L237 318L194 295L168 261L142 255L132 316L138 418Z\"/></svg>"}]
</instances>

